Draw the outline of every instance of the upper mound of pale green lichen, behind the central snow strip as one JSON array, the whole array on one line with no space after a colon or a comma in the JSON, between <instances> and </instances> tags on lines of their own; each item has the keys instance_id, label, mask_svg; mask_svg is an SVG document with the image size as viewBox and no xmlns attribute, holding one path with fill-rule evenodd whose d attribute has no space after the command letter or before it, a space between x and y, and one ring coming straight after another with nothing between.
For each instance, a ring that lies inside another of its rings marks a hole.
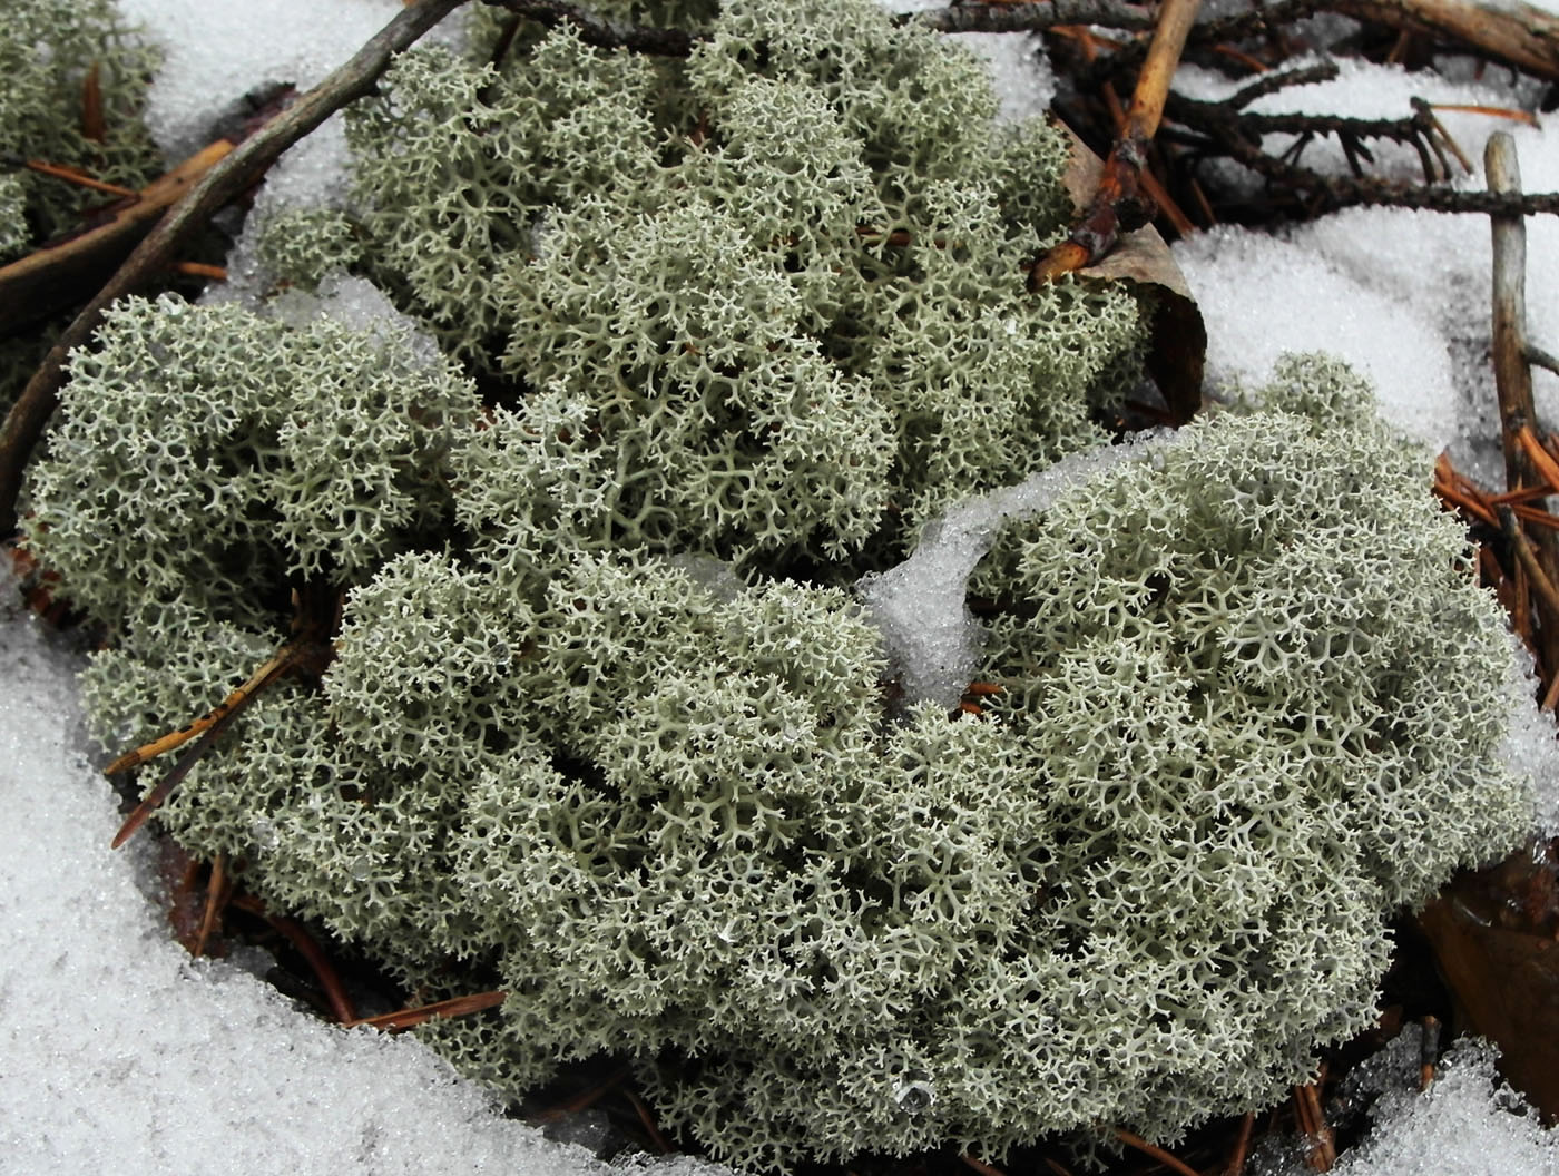
<instances>
[{"instance_id":1,"label":"upper mound of pale green lichen, behind the central snow strip","mask_svg":"<svg viewBox=\"0 0 1559 1176\"><path fill-rule=\"evenodd\" d=\"M870 0L728 5L688 62L567 27L502 72L410 53L382 89L360 221L282 218L268 256L357 264L524 381L514 429L633 471L600 504L627 541L837 561L1098 441L1135 371L1122 287L1024 289L1062 137L996 128L979 62Z\"/></svg>"}]
</instances>

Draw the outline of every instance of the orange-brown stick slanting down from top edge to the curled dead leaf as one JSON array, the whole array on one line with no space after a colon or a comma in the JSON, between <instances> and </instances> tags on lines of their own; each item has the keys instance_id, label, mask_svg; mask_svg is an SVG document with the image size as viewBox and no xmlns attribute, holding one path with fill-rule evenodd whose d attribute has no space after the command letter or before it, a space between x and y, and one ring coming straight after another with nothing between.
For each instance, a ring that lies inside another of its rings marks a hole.
<instances>
[{"instance_id":1,"label":"orange-brown stick slanting down from top edge to the curled dead leaf","mask_svg":"<svg viewBox=\"0 0 1559 1176\"><path fill-rule=\"evenodd\" d=\"M1099 187L1082 221L1071 236L1040 257L1029 270L1029 289L1074 273L1099 260L1121 234L1122 209L1138 201L1141 175L1147 165L1147 145L1158 133L1169 78L1180 62L1180 51L1196 20L1202 0L1165 0L1158 11L1158 28L1147 48L1147 59L1137 78L1132 104L1126 111L1126 126L1105 161Z\"/></svg>"}]
</instances>

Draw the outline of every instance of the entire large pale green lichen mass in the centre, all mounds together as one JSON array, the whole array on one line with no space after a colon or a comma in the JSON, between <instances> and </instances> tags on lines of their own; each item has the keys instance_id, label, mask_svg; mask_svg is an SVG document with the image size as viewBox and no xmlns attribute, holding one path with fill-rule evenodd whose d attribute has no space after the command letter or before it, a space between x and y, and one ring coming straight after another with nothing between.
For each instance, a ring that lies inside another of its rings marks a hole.
<instances>
[{"instance_id":1,"label":"entire large pale green lichen mass in the centre, all mounds together","mask_svg":"<svg viewBox=\"0 0 1559 1176\"><path fill-rule=\"evenodd\" d=\"M452 345L465 313L494 404L398 328L109 317L30 484L115 639L92 730L181 727L337 593L323 677L165 825L424 1000L502 987L422 1031L465 1070L631 1056L742 1168L1260 1106L1370 1020L1384 919L1522 831L1462 540L1296 363L1012 522L974 585L1002 696L896 714L840 585L903 552L890 504L1088 440L1135 310L1026 299L1060 148L990 150L963 56L864 3L714 28L686 73L566 33L504 78L413 58L362 115L407 203L360 256Z\"/></svg>"}]
</instances>

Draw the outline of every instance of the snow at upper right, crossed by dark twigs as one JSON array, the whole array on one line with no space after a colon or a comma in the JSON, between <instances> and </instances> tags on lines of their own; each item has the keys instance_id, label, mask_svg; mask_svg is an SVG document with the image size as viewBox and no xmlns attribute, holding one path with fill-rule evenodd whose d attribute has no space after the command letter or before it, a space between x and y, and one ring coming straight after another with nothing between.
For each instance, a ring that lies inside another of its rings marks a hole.
<instances>
[{"instance_id":1,"label":"snow at upper right, crossed by dark twigs","mask_svg":"<svg viewBox=\"0 0 1559 1176\"><path fill-rule=\"evenodd\" d=\"M1175 89L1224 98L1239 84L1182 67ZM1412 97L1433 103L1511 108L1517 97L1473 81L1408 73L1395 66L1344 61L1335 81L1296 86L1260 98L1250 109L1335 112L1400 119ZM1492 117L1437 111L1476 172L1456 182L1483 187L1489 136L1515 140L1528 192L1559 190L1559 143L1553 133ZM1286 136L1269 136L1274 150ZM1406 154L1402 154L1402 153ZM1419 179L1417 153L1381 145L1384 175ZM1344 175L1333 139L1313 143L1303 164ZM1483 217L1355 207L1297 226L1280 237L1233 226L1197 234L1174 246L1208 328L1210 390L1260 384L1283 349L1325 349L1377 384L1383 415L1403 432L1448 446L1458 468L1486 484L1503 479L1489 365L1492 246ZM1559 349L1559 218L1526 220L1528 338ZM1559 376L1534 370L1539 416L1559 424Z\"/></svg>"}]
</instances>

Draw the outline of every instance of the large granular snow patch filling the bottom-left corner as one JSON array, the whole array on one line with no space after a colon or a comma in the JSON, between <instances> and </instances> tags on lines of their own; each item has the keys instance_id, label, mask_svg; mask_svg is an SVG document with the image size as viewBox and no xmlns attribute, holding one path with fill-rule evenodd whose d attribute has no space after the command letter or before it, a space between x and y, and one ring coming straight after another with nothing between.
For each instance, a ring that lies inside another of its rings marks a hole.
<instances>
[{"instance_id":1,"label":"large granular snow patch filling the bottom-left corner","mask_svg":"<svg viewBox=\"0 0 1559 1176\"><path fill-rule=\"evenodd\" d=\"M410 1037L301 1012L240 962L195 961L109 850L76 658L0 604L0 1173L596 1176ZM249 961L263 969L265 961ZM655 1176L719 1171L691 1160Z\"/></svg>"}]
</instances>

